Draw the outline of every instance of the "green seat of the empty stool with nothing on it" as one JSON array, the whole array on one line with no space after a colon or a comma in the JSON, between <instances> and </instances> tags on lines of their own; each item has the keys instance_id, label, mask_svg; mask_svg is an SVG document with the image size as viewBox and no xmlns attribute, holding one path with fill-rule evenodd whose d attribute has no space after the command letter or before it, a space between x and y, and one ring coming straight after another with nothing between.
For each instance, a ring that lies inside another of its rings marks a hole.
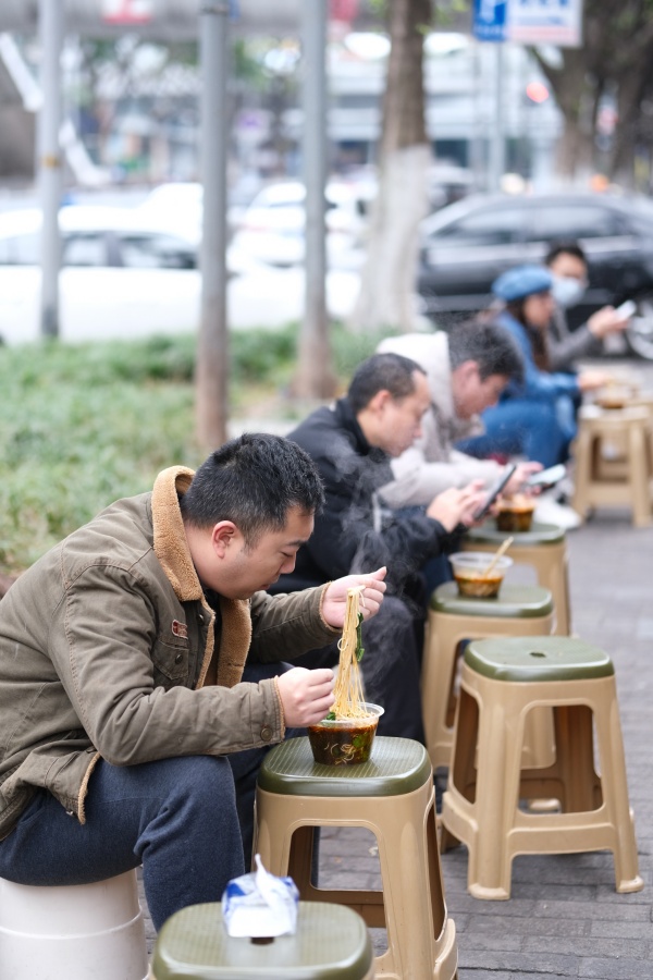
<instances>
[{"instance_id":1,"label":"green seat of the empty stool with nothing on it","mask_svg":"<svg viewBox=\"0 0 653 980\"><path fill-rule=\"evenodd\" d=\"M615 669L604 650L571 637L538 636L469 644L465 663L485 677L535 684L608 677Z\"/></svg>"}]
</instances>

